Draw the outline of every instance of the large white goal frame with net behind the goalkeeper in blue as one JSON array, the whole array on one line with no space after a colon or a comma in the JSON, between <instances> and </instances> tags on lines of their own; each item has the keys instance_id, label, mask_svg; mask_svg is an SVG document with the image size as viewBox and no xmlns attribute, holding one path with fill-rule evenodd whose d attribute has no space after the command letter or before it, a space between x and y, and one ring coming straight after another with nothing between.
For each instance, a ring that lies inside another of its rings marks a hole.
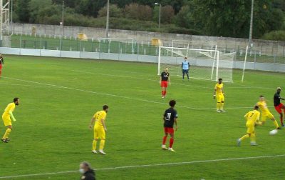
<instances>
[{"instance_id":1,"label":"large white goal frame with net behind the goalkeeper in blue","mask_svg":"<svg viewBox=\"0 0 285 180\"><path fill-rule=\"evenodd\" d=\"M190 63L190 78L212 81L222 78L223 81L232 82L234 56L235 53L222 53L217 50L160 46L158 74L168 68L170 74L182 76L182 61L187 57Z\"/></svg>"}]
</instances>

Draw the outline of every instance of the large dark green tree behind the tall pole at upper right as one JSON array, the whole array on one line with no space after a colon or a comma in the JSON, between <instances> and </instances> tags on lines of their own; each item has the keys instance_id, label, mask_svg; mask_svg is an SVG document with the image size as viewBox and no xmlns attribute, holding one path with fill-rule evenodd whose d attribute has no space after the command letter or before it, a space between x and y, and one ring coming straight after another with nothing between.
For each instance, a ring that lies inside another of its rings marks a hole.
<instances>
[{"instance_id":1,"label":"large dark green tree behind the tall pole at upper right","mask_svg":"<svg viewBox=\"0 0 285 180\"><path fill-rule=\"evenodd\" d=\"M254 1L253 37L259 38L280 24L272 19L282 19L270 0ZM204 34L247 38L251 4L246 0L193 0L195 16L201 23ZM273 13L275 11L275 13ZM194 24L197 26L197 24Z\"/></svg>"}]
</instances>

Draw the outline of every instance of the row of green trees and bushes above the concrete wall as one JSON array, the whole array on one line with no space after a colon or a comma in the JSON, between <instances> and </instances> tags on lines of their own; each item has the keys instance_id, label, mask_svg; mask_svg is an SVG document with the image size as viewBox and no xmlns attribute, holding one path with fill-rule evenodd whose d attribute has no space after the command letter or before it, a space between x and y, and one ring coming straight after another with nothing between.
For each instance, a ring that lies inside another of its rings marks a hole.
<instances>
[{"instance_id":1,"label":"row of green trees and bushes above the concrete wall","mask_svg":"<svg viewBox=\"0 0 285 180\"><path fill-rule=\"evenodd\" d=\"M65 0L65 26L105 27L107 0ZM110 28L247 38L249 0L110 0ZM14 0L13 21L59 24L62 0ZM285 1L255 0L253 38L285 40ZM270 36L270 34L272 34ZM282 39L283 38L283 39Z\"/></svg>"}]
</instances>

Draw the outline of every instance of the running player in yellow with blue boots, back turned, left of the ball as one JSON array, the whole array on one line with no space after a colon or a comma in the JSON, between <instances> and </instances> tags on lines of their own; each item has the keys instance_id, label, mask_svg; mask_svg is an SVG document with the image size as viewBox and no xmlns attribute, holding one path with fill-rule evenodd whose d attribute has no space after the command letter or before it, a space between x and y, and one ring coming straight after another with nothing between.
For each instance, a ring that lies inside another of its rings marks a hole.
<instances>
[{"instance_id":1,"label":"running player in yellow with blue boots, back turned, left of the ball","mask_svg":"<svg viewBox=\"0 0 285 180\"><path fill-rule=\"evenodd\" d=\"M259 106L254 106L254 110L249 111L244 115L244 118L247 120L247 134L237 139L237 146L240 146L242 140L250 137L250 144L252 146L257 146L257 142L255 141L255 126L261 125L259 121L260 112L258 111Z\"/></svg>"}]
</instances>

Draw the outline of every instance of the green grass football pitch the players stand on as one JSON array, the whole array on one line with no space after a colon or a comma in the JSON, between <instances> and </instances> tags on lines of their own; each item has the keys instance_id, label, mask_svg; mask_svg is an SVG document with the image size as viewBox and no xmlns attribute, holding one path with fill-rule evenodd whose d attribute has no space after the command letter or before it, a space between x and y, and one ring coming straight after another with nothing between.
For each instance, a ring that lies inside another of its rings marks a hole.
<instances>
[{"instance_id":1,"label":"green grass football pitch the players stand on","mask_svg":"<svg viewBox=\"0 0 285 180\"><path fill-rule=\"evenodd\" d=\"M285 88L284 74L246 71L242 84L242 71L234 70L234 83L224 84L227 112L217 114L214 81L182 82L181 77L172 76L167 97L162 99L156 64L5 56L2 71L0 110L15 96L21 104L14 111L17 121L11 141L0 144L0 179L80 179L81 161L98 169L98 179L284 176L285 132L281 129L269 136L274 129L270 120L257 128L259 146L250 146L249 140L236 146L237 138L246 132L243 116L260 94L279 121L273 95L277 86ZM170 99L177 101L179 114L176 152L160 149L162 113ZM110 106L106 156L91 153L93 131L88 129L103 104ZM4 131L1 123L1 136ZM123 166L127 167L112 169ZM71 172L58 173L64 171ZM21 176L25 174L46 175Z\"/></svg>"}]
</instances>

